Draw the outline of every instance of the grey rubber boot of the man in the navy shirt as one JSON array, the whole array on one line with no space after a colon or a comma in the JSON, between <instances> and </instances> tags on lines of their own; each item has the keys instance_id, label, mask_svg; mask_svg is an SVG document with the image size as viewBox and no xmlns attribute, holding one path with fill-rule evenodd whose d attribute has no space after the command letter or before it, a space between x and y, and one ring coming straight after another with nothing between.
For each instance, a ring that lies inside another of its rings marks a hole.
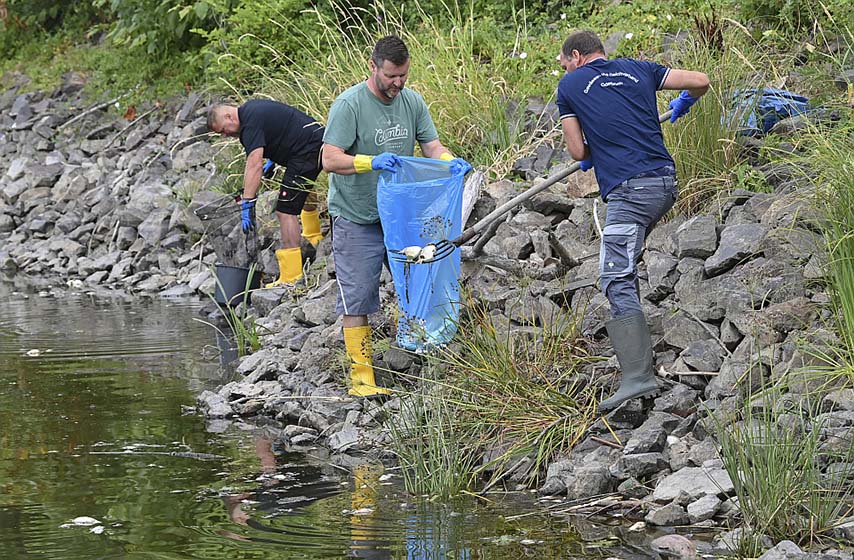
<instances>
[{"instance_id":1,"label":"grey rubber boot of the man in the navy shirt","mask_svg":"<svg viewBox=\"0 0 854 560\"><path fill-rule=\"evenodd\" d=\"M599 404L599 412L611 412L624 402L658 392L652 369L652 339L643 313L611 319L605 324L620 362L623 377L614 396Z\"/></svg>"}]
</instances>

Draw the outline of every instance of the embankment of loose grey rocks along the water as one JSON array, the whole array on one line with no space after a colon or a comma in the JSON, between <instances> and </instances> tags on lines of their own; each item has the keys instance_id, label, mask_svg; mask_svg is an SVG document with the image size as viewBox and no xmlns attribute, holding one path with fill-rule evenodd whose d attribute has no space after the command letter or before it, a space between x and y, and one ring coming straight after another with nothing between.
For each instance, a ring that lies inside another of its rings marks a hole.
<instances>
[{"instance_id":1,"label":"embankment of loose grey rocks along the water","mask_svg":"<svg viewBox=\"0 0 854 560\"><path fill-rule=\"evenodd\" d=\"M210 266L224 259L245 263L247 256L236 215L202 221L192 211L220 196L210 192L221 181L216 148L199 134L203 101L191 95L140 107L128 119L87 101L81 86L69 76L54 92L20 94L12 87L0 94L0 269L54 277L75 289L209 294ZM554 118L552 111L532 102L524 121ZM780 130L797 134L793 124ZM755 409L785 406L782 417L792 425L818 409L804 425L821 426L822 449L851 448L854 390L804 373L838 342L827 328L830 296L824 241L805 180L810 170L759 161L759 142L744 149L765 179L764 192L737 190L705 214L661 225L648 241L640 285L662 394L612 413L610 429L594 425L570 456L549 466L541 493L570 501L632 500L648 525L736 526L738 500L712 435L715 423L731 421L753 391L777 380L787 381L786 394L754 399ZM560 146L544 145L516 170L530 179L566 159ZM595 286L594 213L604 222L605 207L595 202L592 174L576 175L466 249L462 281L511 328L530 333L580 313L584 334L599 340L609 315ZM487 185L472 220L519 187L509 180ZM272 273L276 234L270 221L259 239L262 269ZM347 397L328 239L319 244L308 278L293 293L253 295L256 325L269 334L261 350L237 364L238 381L201 395L202 408L210 417L274 419L285 446L321 446L342 465L385 455L388 434L378 419L400 401L377 405ZM382 296L394 305L388 276ZM382 326L384 318L372 320ZM375 363L410 374L421 367L417 356L395 348L378 352ZM618 379L616 360L587 374L607 393ZM850 475L850 467L834 468ZM854 518L837 536L854 541ZM716 542L723 550L741 537L739 530L727 531ZM842 557L851 558L835 556Z\"/></svg>"}]
</instances>

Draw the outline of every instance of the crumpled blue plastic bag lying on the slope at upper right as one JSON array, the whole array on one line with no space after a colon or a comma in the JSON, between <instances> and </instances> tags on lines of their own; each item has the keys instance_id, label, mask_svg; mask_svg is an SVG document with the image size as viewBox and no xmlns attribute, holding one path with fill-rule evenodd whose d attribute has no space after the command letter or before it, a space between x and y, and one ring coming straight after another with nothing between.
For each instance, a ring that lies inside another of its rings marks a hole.
<instances>
[{"instance_id":1,"label":"crumpled blue plastic bag lying on the slope at upper right","mask_svg":"<svg viewBox=\"0 0 854 560\"><path fill-rule=\"evenodd\" d=\"M732 108L726 122L737 127L739 134L766 134L777 122L806 114L808 102L806 97L782 89L742 89L732 95Z\"/></svg>"}]
</instances>

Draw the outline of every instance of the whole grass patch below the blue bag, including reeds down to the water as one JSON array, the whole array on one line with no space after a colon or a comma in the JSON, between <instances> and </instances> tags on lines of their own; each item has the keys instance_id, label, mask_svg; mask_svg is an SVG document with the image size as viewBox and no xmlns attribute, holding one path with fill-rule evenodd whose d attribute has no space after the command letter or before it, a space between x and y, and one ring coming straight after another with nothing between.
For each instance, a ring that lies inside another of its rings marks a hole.
<instances>
[{"instance_id":1,"label":"whole grass patch below the blue bag, including reeds down to the water","mask_svg":"<svg viewBox=\"0 0 854 560\"><path fill-rule=\"evenodd\" d=\"M590 358L578 318L560 313L543 323L500 326L482 304L466 304L458 343L431 358L428 371L441 375L416 379L422 389L404 399L423 422L391 431L411 488L446 493L442 481L424 480L442 469L457 489L488 473L489 488L520 465L533 482L581 440L597 414L580 373Z\"/></svg>"}]
</instances>

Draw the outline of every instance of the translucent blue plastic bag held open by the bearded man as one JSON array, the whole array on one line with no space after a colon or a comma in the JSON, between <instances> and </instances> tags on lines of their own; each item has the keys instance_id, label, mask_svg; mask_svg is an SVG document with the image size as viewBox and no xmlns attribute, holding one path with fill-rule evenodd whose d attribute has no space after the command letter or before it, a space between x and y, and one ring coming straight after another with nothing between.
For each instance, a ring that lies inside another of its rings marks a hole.
<instances>
[{"instance_id":1,"label":"translucent blue plastic bag held open by the bearded man","mask_svg":"<svg viewBox=\"0 0 854 560\"><path fill-rule=\"evenodd\" d=\"M451 175L450 162L401 157L393 173L380 174L377 207L386 250L423 247L462 232L464 174ZM422 351L447 344L457 332L460 251L429 264L389 258L400 316L397 344Z\"/></svg>"}]
</instances>

